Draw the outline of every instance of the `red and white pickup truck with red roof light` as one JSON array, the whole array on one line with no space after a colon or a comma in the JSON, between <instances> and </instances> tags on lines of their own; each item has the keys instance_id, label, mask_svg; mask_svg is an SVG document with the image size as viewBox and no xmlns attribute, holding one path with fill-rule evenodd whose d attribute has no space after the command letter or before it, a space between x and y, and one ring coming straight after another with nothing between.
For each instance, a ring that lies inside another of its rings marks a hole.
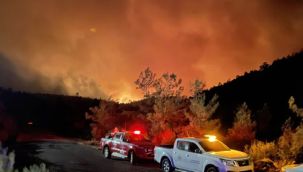
<instances>
[{"instance_id":1,"label":"red and white pickup truck with red roof light","mask_svg":"<svg viewBox=\"0 0 303 172\"><path fill-rule=\"evenodd\" d=\"M100 149L105 158L111 156L128 159L135 164L139 159L153 159L154 145L140 131L117 132L100 140Z\"/></svg>"}]
</instances>

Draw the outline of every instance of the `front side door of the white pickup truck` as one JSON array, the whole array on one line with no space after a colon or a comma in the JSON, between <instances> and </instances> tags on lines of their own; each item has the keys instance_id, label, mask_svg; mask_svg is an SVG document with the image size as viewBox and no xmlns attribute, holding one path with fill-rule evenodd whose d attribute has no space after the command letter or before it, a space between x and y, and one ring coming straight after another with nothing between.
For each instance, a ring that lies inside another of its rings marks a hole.
<instances>
[{"instance_id":1,"label":"front side door of the white pickup truck","mask_svg":"<svg viewBox=\"0 0 303 172\"><path fill-rule=\"evenodd\" d=\"M201 148L194 142L188 142L188 147L186 148L186 169L190 171L201 171L204 156L202 155Z\"/></svg>"}]
</instances>

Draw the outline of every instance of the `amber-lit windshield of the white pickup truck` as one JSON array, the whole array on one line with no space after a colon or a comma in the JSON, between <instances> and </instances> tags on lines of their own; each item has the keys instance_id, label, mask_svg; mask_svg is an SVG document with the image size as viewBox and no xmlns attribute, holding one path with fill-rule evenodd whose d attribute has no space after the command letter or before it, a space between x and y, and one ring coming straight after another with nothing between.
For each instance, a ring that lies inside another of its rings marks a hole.
<instances>
[{"instance_id":1,"label":"amber-lit windshield of the white pickup truck","mask_svg":"<svg viewBox=\"0 0 303 172\"><path fill-rule=\"evenodd\" d=\"M225 144L222 142L216 140L213 142L210 142L207 139L200 140L200 145L206 152L219 152L219 151L229 151L230 148L227 147Z\"/></svg>"}]
</instances>

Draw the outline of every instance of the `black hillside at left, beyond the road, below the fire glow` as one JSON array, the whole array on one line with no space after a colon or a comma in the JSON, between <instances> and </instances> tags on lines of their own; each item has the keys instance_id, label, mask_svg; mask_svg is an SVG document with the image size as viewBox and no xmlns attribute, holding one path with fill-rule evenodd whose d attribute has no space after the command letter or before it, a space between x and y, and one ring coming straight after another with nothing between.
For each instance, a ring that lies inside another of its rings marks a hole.
<instances>
[{"instance_id":1,"label":"black hillside at left, beyond the road, below the fire glow","mask_svg":"<svg viewBox=\"0 0 303 172\"><path fill-rule=\"evenodd\" d=\"M90 130L84 114L98 104L98 99L0 88L0 130L8 130L13 137L20 132L47 132L88 138Z\"/></svg>"}]
</instances>

